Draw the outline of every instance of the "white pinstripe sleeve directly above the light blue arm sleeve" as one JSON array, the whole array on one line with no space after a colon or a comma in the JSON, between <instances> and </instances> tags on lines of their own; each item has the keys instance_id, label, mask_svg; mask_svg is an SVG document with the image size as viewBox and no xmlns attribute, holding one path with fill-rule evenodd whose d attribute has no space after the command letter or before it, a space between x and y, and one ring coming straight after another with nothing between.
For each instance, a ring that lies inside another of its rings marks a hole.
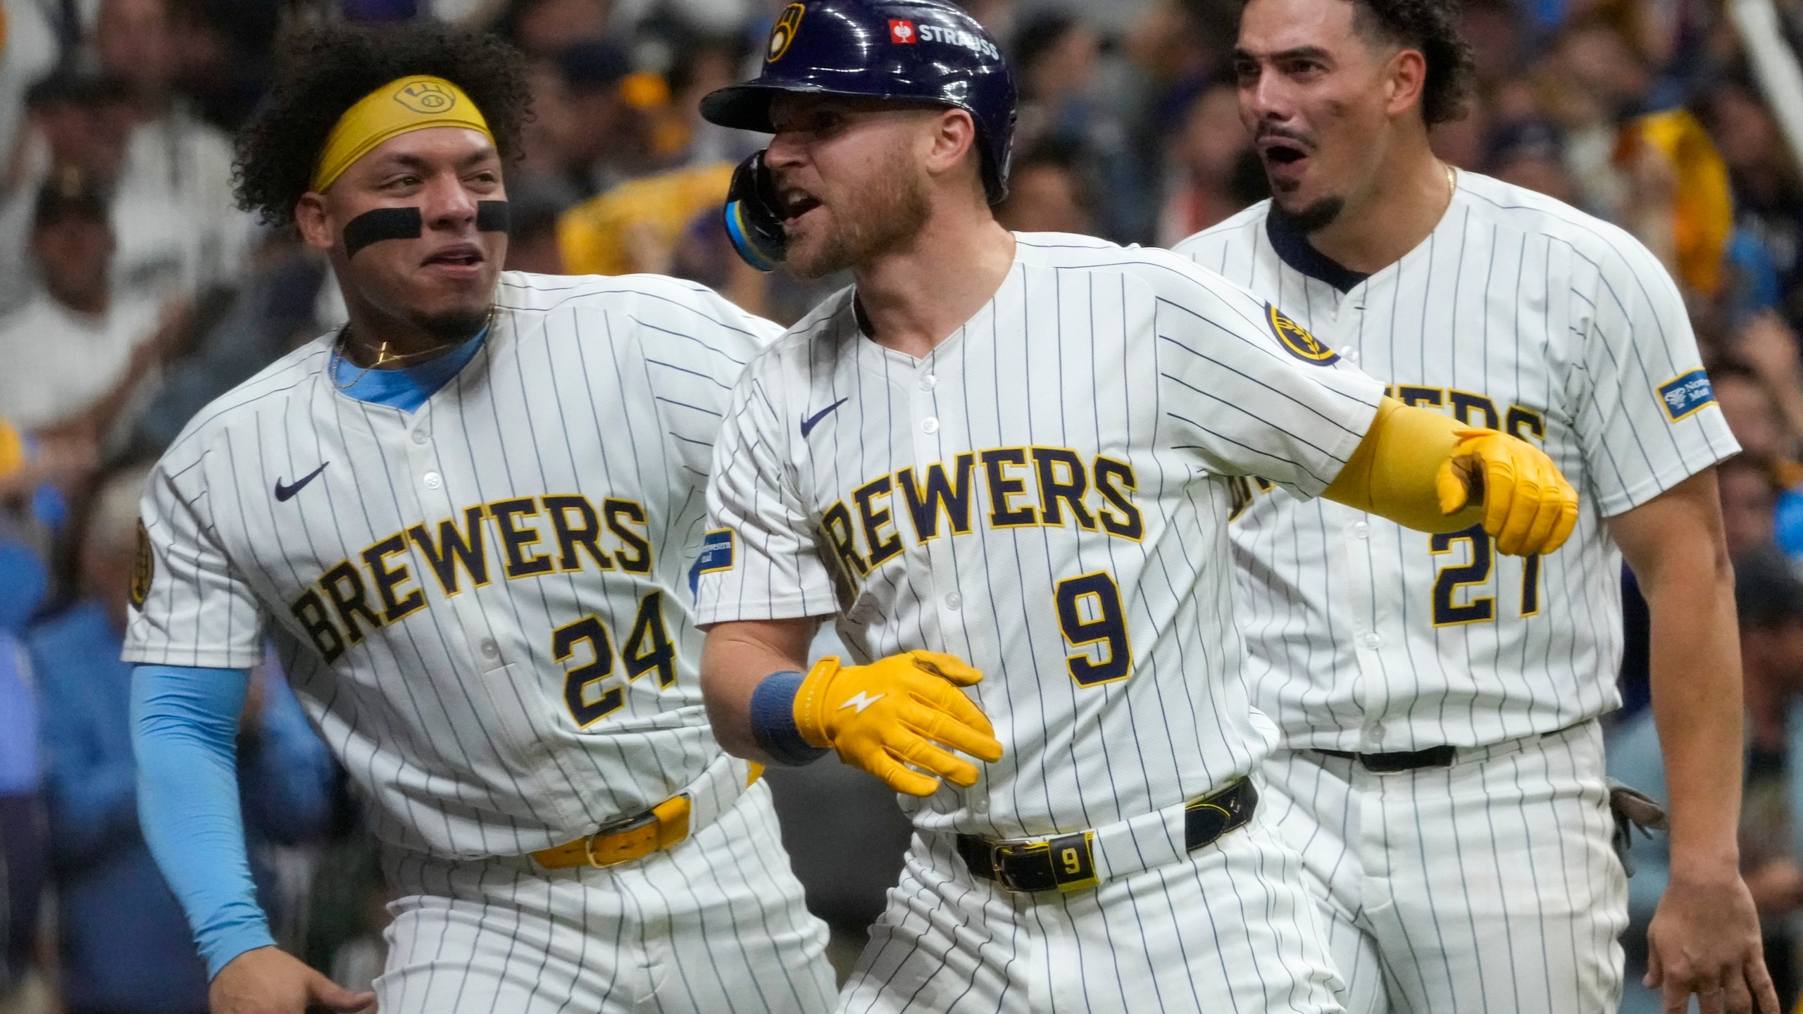
<instances>
[{"instance_id":1,"label":"white pinstripe sleeve directly above the light blue arm sleeve","mask_svg":"<svg viewBox=\"0 0 1803 1014\"><path fill-rule=\"evenodd\" d=\"M211 512L207 455L168 456L150 473L132 576L128 662L247 669L263 657L261 610L218 545Z\"/></svg>"}]
</instances>

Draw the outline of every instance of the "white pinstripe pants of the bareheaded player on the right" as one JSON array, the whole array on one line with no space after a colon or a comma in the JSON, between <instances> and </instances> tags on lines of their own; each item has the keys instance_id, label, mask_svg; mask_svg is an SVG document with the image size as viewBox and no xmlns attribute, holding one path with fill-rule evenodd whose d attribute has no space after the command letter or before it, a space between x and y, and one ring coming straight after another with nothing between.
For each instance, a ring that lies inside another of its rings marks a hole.
<instances>
[{"instance_id":1,"label":"white pinstripe pants of the bareheaded player on the right","mask_svg":"<svg viewBox=\"0 0 1803 1014\"><path fill-rule=\"evenodd\" d=\"M1396 774L1280 749L1266 774L1350 1014L1615 1010L1628 888L1596 722Z\"/></svg>"}]
</instances>

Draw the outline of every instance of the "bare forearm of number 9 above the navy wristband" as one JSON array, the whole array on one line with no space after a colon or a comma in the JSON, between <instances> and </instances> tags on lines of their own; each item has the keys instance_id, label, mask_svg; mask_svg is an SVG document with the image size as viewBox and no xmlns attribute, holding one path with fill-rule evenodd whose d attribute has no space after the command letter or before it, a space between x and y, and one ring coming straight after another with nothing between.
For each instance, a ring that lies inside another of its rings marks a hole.
<instances>
[{"instance_id":1,"label":"bare forearm of number 9 above the navy wristband","mask_svg":"<svg viewBox=\"0 0 1803 1014\"><path fill-rule=\"evenodd\" d=\"M752 696L772 673L808 669L808 642L817 621L723 622L707 631L701 651L701 698L714 738L728 754L757 763L783 763L757 742Z\"/></svg>"}]
</instances>

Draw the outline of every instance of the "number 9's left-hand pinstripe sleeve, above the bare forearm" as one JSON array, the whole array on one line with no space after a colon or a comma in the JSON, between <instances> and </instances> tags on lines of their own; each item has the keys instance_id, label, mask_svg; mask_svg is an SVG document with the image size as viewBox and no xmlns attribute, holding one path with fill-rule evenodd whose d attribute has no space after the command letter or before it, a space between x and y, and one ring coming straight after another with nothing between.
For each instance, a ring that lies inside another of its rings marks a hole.
<instances>
[{"instance_id":1,"label":"number 9's left-hand pinstripe sleeve, above the bare forearm","mask_svg":"<svg viewBox=\"0 0 1803 1014\"><path fill-rule=\"evenodd\" d=\"M739 381L714 444L709 547L696 622L795 619L838 612L833 576L817 547L811 511L790 464L788 431L801 413L772 383L801 339L784 339Z\"/></svg>"}]
</instances>

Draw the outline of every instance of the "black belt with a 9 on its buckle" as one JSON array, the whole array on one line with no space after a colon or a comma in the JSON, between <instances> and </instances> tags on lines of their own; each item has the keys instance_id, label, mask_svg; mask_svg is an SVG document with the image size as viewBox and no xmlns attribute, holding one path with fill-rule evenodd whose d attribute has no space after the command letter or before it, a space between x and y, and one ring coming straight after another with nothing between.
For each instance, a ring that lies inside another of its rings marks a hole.
<instances>
[{"instance_id":1,"label":"black belt with a 9 on its buckle","mask_svg":"<svg viewBox=\"0 0 1803 1014\"><path fill-rule=\"evenodd\" d=\"M1258 790L1246 779L1195 799L1183 808L1183 846L1195 852L1213 844L1230 830L1251 823L1257 808ZM995 880L1010 891L1075 891L1098 882L1094 837L1093 830L1013 841L961 834L957 855L972 877Z\"/></svg>"}]
</instances>

